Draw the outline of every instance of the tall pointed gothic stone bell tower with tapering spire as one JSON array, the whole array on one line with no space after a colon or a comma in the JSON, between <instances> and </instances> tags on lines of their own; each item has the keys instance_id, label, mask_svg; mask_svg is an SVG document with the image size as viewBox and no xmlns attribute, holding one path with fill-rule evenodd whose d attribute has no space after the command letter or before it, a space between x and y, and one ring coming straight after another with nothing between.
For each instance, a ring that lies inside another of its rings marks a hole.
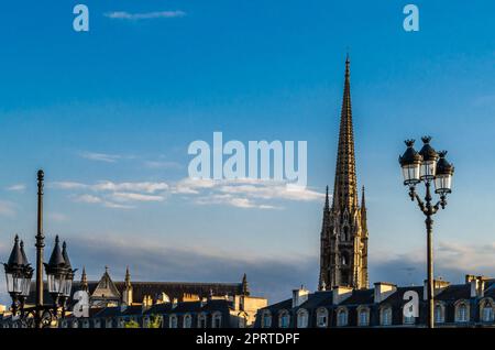
<instances>
[{"instance_id":1,"label":"tall pointed gothic stone bell tower with tapering spire","mask_svg":"<svg viewBox=\"0 0 495 350\"><path fill-rule=\"evenodd\" d=\"M366 207L364 187L361 206L358 201L350 64L348 56L333 197L330 206L327 186L323 208L319 289L333 286L360 289L369 285Z\"/></svg>"}]
</instances>

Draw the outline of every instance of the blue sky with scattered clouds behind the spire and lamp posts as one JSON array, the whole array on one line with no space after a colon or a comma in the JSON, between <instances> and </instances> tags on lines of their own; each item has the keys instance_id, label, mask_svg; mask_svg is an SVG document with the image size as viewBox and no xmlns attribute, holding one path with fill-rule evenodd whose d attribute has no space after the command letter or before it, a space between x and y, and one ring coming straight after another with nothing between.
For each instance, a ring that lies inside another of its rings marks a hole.
<instances>
[{"instance_id":1,"label":"blue sky with scattered clouds behind the spire and lamp posts","mask_svg":"<svg viewBox=\"0 0 495 350\"><path fill-rule=\"evenodd\" d=\"M45 231L67 239L92 278L106 264L122 277L129 264L140 280L237 281L248 271L272 299L314 288L349 51L371 280L424 276L422 217L397 163L403 140L422 134L455 165L436 218L437 274L495 274L493 1L413 1L416 33L403 30L407 2L396 0L82 2L88 33L72 29L76 1L0 9L3 260L15 232L34 243L43 167ZM111 15L163 11L180 15ZM261 185L226 199L229 187L191 187L187 146L212 142L213 131L307 141L307 195Z\"/></svg>"}]
</instances>

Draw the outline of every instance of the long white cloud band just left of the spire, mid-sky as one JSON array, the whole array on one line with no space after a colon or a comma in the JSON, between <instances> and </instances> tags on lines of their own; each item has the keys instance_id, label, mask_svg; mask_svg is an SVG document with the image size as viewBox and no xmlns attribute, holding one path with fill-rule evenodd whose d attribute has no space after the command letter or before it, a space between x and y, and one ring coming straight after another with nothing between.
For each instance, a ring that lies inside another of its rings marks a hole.
<instances>
[{"instance_id":1,"label":"long white cloud band just left of the spire, mid-sky","mask_svg":"<svg viewBox=\"0 0 495 350\"><path fill-rule=\"evenodd\" d=\"M51 186L72 192L75 201L100 204L111 208L131 208L123 204L164 201L167 195L180 195L197 205L224 205L237 208L280 209L280 201L322 200L318 192L287 187L285 182L260 179L193 179L184 178L175 183L101 181L95 184L57 182ZM82 192L82 193L81 193ZM133 208L133 207L132 207Z\"/></svg>"}]
</instances>

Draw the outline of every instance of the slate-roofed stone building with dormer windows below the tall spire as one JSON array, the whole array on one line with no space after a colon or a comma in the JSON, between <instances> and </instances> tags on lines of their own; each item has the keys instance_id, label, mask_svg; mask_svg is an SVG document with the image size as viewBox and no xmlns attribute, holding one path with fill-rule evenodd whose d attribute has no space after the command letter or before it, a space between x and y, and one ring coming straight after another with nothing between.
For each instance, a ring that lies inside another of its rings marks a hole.
<instances>
[{"instance_id":1,"label":"slate-roofed stone building with dormer windows below the tall spire","mask_svg":"<svg viewBox=\"0 0 495 350\"><path fill-rule=\"evenodd\" d=\"M464 284L435 281L436 327L495 328L495 278L466 275ZM375 283L373 288L336 286L331 291L293 291L293 298L262 308L257 328L426 327L428 302L425 286ZM404 307L419 296L418 317Z\"/></svg>"}]
</instances>

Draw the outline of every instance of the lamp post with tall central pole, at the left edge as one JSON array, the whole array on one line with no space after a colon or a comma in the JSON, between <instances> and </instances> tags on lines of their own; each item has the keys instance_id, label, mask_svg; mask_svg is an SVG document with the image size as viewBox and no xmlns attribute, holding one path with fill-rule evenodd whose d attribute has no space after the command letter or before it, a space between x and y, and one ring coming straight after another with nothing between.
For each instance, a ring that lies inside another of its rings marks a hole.
<instances>
[{"instance_id":1,"label":"lamp post with tall central pole, at the left edge","mask_svg":"<svg viewBox=\"0 0 495 350\"><path fill-rule=\"evenodd\" d=\"M28 262L24 253L24 244L19 243L19 237L15 236L14 245L9 261L4 265L7 289L12 297L12 314L18 316L21 310L20 319L25 327L42 328L50 326L58 317L58 309L62 302L64 310L65 300L70 296L72 282L74 273L68 259L66 244L64 242L61 251L58 236L55 239L55 245L48 263L43 262L43 250L45 247L43 234L43 171L37 172L37 234L36 234L36 291L34 307L24 307L25 299L30 295L31 278L33 269ZM43 303L43 266L47 275L48 292L53 298L52 305ZM64 316L64 311L62 313Z\"/></svg>"}]
</instances>

